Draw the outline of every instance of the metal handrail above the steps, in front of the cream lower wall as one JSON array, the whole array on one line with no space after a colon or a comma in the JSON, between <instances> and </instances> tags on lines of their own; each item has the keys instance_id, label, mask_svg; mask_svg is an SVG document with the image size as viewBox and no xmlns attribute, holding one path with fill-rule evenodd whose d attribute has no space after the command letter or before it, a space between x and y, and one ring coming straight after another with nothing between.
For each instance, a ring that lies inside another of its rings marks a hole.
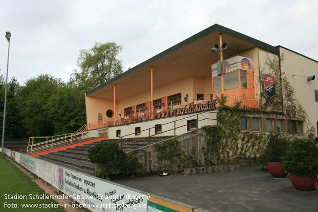
<instances>
[{"instance_id":1,"label":"metal handrail above the steps, in front of the cream lower wall","mask_svg":"<svg viewBox=\"0 0 318 212\"><path fill-rule=\"evenodd\" d=\"M199 121L198 121L198 116L199 116L200 114L203 114L203 113L214 113L214 114L218 114L217 112L204 111L204 112L202 112L202 113L194 114L194 115L192 115L192 116L188 116L188 117L184 117L184 118L182 118L182 119L178 119L178 120L175 120L175 121L171 121L171 122L162 124L161 126L166 125L166 124L174 123L174 128L172 128L172 129L170 129L170 130L166 130L166 131L164 131L164 132L155 133L155 134L153 134L153 135L150 135L150 134L151 134L151 133L150 133L150 132L151 132L150 130L153 129L153 128L156 128L156 127L151 127L151 128L145 129L145 130L141 130L140 133L143 132L143 131L149 130L149 136L143 137L143 138L140 138L140 139L137 139L137 140L128 142L128 143L125 143L124 145L130 144L130 143L133 143L133 142L136 142L136 141L140 141L140 140L146 139L146 138L149 138L149 145L150 145L150 137L155 136L155 135L158 135L158 134L162 134L162 133L165 133L165 132L169 132L169 131L171 131L171 130L174 130L174 136L176 136L176 129L188 125L188 124L186 124L186 125L182 125L182 126L176 127L176 122L177 122L177 121L180 121L180 120L183 120L183 119L188 119L188 118L193 117L193 116L197 116L197 121L196 121L196 123L197 123L197 129L198 129L198 122L199 122ZM209 120L217 120L217 119L205 118L205 119L202 119L202 120L200 120L200 121L203 121L203 120L206 120L206 119L209 119ZM121 139L121 142L120 142L121 148L122 148L122 146L123 146L123 143L122 143L123 137L129 136L129 135L133 135L133 134L135 134L135 133L130 133L130 134L127 134L127 135L124 135L124 136L121 136L121 137L120 137L120 139Z\"/></svg>"}]
</instances>

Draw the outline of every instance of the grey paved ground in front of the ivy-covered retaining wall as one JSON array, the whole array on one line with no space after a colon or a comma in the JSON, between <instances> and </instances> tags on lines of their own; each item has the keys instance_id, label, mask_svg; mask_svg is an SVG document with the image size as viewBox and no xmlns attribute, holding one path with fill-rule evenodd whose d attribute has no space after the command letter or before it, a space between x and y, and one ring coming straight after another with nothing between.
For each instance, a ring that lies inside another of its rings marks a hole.
<instances>
[{"instance_id":1,"label":"grey paved ground in front of the ivy-covered retaining wall","mask_svg":"<svg viewBox=\"0 0 318 212\"><path fill-rule=\"evenodd\" d=\"M318 188L296 190L258 166L241 171L168 177L151 176L116 183L214 212L318 212Z\"/></svg>"}]
</instances>

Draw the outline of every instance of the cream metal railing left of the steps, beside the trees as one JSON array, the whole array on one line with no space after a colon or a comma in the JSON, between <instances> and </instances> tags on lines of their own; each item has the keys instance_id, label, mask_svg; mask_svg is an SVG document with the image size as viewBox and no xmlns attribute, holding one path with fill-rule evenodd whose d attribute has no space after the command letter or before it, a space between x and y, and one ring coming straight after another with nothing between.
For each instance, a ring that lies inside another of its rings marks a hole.
<instances>
[{"instance_id":1,"label":"cream metal railing left of the steps, beside the trees","mask_svg":"<svg viewBox=\"0 0 318 212\"><path fill-rule=\"evenodd\" d=\"M44 149L52 149L53 147L64 145L64 144L72 144L76 141L90 139L91 132L90 131L82 131L77 133L68 133L64 135L57 136L39 136L39 137L29 137L29 143L27 146L27 153L32 153L34 151L44 150ZM46 139L43 142L34 143L34 139ZM30 141L31 144L30 144Z\"/></svg>"}]
</instances>

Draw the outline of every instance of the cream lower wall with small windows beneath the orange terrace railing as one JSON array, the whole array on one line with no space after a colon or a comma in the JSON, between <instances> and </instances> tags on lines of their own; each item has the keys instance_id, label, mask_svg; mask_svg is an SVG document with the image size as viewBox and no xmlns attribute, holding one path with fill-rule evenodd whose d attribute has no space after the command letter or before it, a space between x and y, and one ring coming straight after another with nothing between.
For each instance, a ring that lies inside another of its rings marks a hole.
<instances>
[{"instance_id":1,"label":"cream lower wall with small windows beneath the orange terrace railing","mask_svg":"<svg viewBox=\"0 0 318 212\"><path fill-rule=\"evenodd\" d=\"M177 115L177 116L171 116L171 117L166 117L166 118L160 118L160 119L153 119L149 121L143 121L143 122L138 122L138 123L132 123L132 124L127 124L127 125L121 125L121 126L114 126L114 127L109 127L108 128L108 138L109 139L115 139L116 137L116 131L120 130L121 136L131 134L130 136L124 137L124 138L142 138L149 136L149 128L154 127L156 124L161 124L162 125L162 132L171 130L174 128L174 121L176 121L176 127L180 127L183 125L187 124L188 120L193 120L197 119L197 114L198 114L198 128L201 128L202 126L206 125L214 125L217 123L216 120L209 120L209 119L216 119L216 111L207 111L207 112L200 112L200 113L191 113L191 114L186 114L186 115ZM209 118L209 119L206 119ZM203 120L206 119L206 120ZM200 121L203 120L203 121ZM172 122L172 123L170 123ZM168 123L168 124L166 124ZM165 124L165 125L164 125ZM135 135L135 128L140 127L141 131L140 135ZM180 127L176 129L176 135L181 135L184 133L187 133L187 126ZM154 135L155 134L155 129L152 128L150 130L150 134ZM174 130L158 134L158 136L174 136Z\"/></svg>"}]
</instances>

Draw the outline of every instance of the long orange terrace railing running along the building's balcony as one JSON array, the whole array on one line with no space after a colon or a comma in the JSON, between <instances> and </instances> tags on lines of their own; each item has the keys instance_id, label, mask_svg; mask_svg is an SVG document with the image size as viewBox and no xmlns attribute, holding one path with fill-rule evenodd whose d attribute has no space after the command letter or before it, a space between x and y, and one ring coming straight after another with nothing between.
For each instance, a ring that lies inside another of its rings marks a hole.
<instances>
[{"instance_id":1,"label":"long orange terrace railing running along the building's balcony","mask_svg":"<svg viewBox=\"0 0 318 212\"><path fill-rule=\"evenodd\" d=\"M187 114L192 112L199 112L204 110L209 110L213 108L218 108L220 103L218 99L222 99L222 94L215 94L210 96L205 96L197 99L181 101L178 103L169 103L164 107L155 107L153 110L153 118L163 118L168 116L174 116L179 114ZM241 107L244 109L259 109L260 100L255 98L247 98L235 95L223 95L223 99L226 106L233 107L237 102L241 103ZM87 124L88 130L112 127L122 124L135 123L140 121L145 121L152 119L152 111L149 109L147 111L136 111L133 114L125 114L123 116L113 117L111 119L104 120L102 122L93 122Z\"/></svg>"}]
</instances>

